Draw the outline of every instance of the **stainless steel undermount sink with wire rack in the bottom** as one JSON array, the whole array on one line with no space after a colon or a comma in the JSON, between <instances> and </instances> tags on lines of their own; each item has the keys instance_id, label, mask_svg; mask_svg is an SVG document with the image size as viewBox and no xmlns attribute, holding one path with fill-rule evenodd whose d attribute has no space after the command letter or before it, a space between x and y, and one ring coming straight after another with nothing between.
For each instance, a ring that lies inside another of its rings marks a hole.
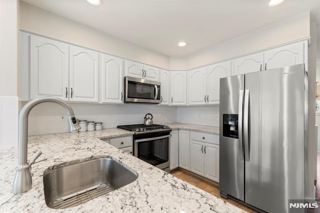
<instances>
[{"instance_id":1,"label":"stainless steel undermount sink with wire rack in the bottom","mask_svg":"<svg viewBox=\"0 0 320 213\"><path fill-rule=\"evenodd\" d=\"M62 166L43 175L45 203L50 208L72 207L137 177L136 172L108 157Z\"/></svg>"}]
</instances>

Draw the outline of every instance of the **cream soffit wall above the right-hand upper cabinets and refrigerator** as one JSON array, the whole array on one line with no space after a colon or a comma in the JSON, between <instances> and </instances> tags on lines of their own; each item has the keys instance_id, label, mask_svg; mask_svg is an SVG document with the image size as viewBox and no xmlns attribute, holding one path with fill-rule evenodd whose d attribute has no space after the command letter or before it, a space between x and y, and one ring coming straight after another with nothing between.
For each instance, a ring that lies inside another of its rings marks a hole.
<instances>
[{"instance_id":1,"label":"cream soffit wall above the right-hand upper cabinets and refrigerator","mask_svg":"<svg viewBox=\"0 0 320 213\"><path fill-rule=\"evenodd\" d=\"M308 36L310 36L310 14L304 12L189 54L185 57L186 68L191 69ZM174 64L174 61L171 61L171 64Z\"/></svg>"}]
</instances>

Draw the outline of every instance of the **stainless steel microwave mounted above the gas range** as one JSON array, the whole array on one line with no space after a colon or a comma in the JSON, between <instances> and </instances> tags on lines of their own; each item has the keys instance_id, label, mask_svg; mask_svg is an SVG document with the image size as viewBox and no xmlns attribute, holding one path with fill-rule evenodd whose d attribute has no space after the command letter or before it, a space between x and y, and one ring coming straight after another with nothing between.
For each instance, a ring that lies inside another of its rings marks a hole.
<instances>
[{"instance_id":1,"label":"stainless steel microwave mounted above the gas range","mask_svg":"<svg viewBox=\"0 0 320 213\"><path fill-rule=\"evenodd\" d=\"M124 77L124 102L160 103L161 83L137 77Z\"/></svg>"}]
</instances>

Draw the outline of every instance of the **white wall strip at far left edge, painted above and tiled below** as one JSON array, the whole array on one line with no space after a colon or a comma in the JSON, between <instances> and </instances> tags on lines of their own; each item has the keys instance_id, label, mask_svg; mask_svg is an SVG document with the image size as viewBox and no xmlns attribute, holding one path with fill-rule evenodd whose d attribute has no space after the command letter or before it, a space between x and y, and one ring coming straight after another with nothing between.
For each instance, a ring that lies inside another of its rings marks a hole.
<instances>
[{"instance_id":1,"label":"white wall strip at far left edge, painted above and tiled below","mask_svg":"<svg viewBox=\"0 0 320 213\"><path fill-rule=\"evenodd\" d=\"M17 146L18 0L0 0L0 149Z\"/></svg>"}]
</instances>

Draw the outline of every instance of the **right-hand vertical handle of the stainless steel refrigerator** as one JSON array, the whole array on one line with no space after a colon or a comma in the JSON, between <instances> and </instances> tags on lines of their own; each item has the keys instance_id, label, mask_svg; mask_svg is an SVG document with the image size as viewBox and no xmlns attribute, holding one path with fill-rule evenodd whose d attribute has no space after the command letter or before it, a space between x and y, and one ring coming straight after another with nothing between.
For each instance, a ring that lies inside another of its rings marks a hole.
<instances>
[{"instance_id":1,"label":"right-hand vertical handle of the stainless steel refrigerator","mask_svg":"<svg viewBox=\"0 0 320 213\"><path fill-rule=\"evenodd\" d=\"M243 137L244 137L244 158L250 161L249 158L249 89L244 92L244 110L243 110Z\"/></svg>"}]
</instances>

